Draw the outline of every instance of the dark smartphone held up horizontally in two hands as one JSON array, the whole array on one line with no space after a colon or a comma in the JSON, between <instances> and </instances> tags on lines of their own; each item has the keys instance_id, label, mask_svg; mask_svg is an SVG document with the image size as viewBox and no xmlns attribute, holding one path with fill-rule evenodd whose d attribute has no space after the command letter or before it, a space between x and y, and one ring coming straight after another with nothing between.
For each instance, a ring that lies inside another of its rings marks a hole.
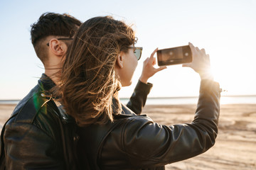
<instances>
[{"instance_id":1,"label":"dark smartphone held up horizontally in two hands","mask_svg":"<svg viewBox=\"0 0 256 170\"><path fill-rule=\"evenodd\" d=\"M159 66L183 64L193 60L189 45L166 48L158 50L156 53Z\"/></svg>"}]
</instances>

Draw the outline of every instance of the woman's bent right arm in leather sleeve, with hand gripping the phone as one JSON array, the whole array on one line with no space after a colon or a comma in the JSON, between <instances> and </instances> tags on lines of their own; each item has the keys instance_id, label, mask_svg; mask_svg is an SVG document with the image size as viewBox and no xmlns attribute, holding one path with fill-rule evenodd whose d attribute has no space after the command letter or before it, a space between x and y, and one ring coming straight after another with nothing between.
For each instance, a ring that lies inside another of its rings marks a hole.
<instances>
[{"instance_id":1,"label":"woman's bent right arm in leather sleeve, with hand gripping the phone","mask_svg":"<svg viewBox=\"0 0 256 170\"><path fill-rule=\"evenodd\" d=\"M184 66L194 69L202 79L194 120L189 124L168 126L154 123L150 118L132 118L125 125L130 133L123 133L122 141L134 166L178 162L202 154L215 144L220 114L219 84L209 72L210 60L205 50L190 45L193 62Z\"/></svg>"}]
</instances>

